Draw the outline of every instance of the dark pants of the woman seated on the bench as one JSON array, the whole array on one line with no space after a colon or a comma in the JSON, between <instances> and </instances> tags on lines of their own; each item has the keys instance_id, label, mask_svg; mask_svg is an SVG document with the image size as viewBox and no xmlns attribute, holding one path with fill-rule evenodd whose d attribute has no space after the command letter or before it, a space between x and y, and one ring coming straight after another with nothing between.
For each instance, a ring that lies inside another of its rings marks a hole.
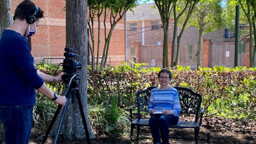
<instances>
[{"instance_id":1,"label":"dark pants of the woman seated on the bench","mask_svg":"<svg viewBox=\"0 0 256 144\"><path fill-rule=\"evenodd\" d=\"M153 136L153 142L161 143L160 133L163 144L169 144L169 125L177 125L178 117L174 115L151 115L149 119L150 131Z\"/></svg>"}]
</instances>

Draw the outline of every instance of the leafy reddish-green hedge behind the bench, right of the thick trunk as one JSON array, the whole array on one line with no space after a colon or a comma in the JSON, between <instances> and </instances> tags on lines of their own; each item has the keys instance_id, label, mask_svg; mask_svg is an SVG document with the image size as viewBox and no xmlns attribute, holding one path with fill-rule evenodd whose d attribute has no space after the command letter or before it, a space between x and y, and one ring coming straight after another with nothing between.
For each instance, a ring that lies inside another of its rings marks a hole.
<instances>
[{"instance_id":1,"label":"leafy reddish-green hedge behind the bench, right of the thick trunk","mask_svg":"<svg viewBox=\"0 0 256 144\"><path fill-rule=\"evenodd\" d=\"M160 68L131 68L128 65L88 71L88 102L100 104L120 95L118 107L128 110L136 104L136 92L157 86ZM206 115L256 119L256 68L171 69L172 86L188 87L203 97Z\"/></svg>"}]
</instances>

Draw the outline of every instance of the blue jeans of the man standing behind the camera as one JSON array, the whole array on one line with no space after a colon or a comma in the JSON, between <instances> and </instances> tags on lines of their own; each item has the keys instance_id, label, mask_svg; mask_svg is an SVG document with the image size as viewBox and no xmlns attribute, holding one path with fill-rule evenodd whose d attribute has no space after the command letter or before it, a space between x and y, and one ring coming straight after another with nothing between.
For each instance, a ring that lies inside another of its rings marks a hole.
<instances>
[{"instance_id":1,"label":"blue jeans of the man standing behind the camera","mask_svg":"<svg viewBox=\"0 0 256 144\"><path fill-rule=\"evenodd\" d=\"M4 124L5 144L28 144L33 107L0 105L0 121Z\"/></svg>"}]
</instances>

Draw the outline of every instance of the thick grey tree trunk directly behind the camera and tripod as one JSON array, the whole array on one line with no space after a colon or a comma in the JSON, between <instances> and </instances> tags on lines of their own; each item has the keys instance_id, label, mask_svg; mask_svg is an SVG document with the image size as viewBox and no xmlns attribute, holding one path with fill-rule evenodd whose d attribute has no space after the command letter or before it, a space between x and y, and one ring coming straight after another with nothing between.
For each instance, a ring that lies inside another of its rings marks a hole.
<instances>
[{"instance_id":1,"label":"thick grey tree trunk directly behind the camera and tripod","mask_svg":"<svg viewBox=\"0 0 256 144\"><path fill-rule=\"evenodd\" d=\"M81 76L80 96L86 116L86 122L90 138L95 138L88 119L87 107L87 0L67 0L66 10L66 47L75 48L77 58L83 64L83 68L78 70ZM74 104L69 101L66 116L63 121L62 132L65 138L81 139L85 138L84 126L80 115L77 102Z\"/></svg>"}]
</instances>

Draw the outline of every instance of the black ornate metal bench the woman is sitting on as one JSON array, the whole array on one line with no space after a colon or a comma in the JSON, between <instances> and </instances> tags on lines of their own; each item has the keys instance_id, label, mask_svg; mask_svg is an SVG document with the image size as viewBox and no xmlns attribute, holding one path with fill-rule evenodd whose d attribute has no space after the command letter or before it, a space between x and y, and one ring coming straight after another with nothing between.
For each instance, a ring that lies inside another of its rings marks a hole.
<instances>
[{"instance_id":1,"label":"black ornate metal bench the woman is sitting on","mask_svg":"<svg viewBox=\"0 0 256 144\"><path fill-rule=\"evenodd\" d=\"M156 86L155 86L156 87ZM132 133L135 125L137 126L137 140L140 134L141 126L149 126L149 119L141 119L140 112L146 111L148 112L148 103L150 99L151 90L155 87L149 87L146 90L140 91L136 94L137 98L137 107L138 107L138 119L132 121L132 109L130 108L130 118L131 118L131 140ZM177 89L179 97L180 97L180 115L182 114L195 114L195 122L182 122L180 121L179 125L169 125L169 128L194 128L195 131L195 141L198 144L198 136L200 126L202 124L202 118L204 114L204 110L201 108L202 96L199 93L193 92L191 89L182 88L182 87L174 87ZM198 114L199 110L201 110L200 121L198 123Z\"/></svg>"}]
</instances>

